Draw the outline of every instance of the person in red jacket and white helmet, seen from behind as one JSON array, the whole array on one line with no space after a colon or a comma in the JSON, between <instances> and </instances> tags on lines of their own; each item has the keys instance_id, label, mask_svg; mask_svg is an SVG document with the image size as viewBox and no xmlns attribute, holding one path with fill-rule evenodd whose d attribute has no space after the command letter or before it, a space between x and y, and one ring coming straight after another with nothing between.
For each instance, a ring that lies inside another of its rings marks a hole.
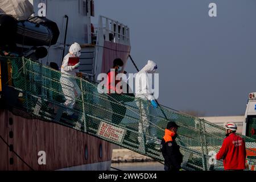
<instances>
[{"instance_id":1,"label":"person in red jacket and white helmet, seen from behind","mask_svg":"<svg viewBox=\"0 0 256 182\"><path fill-rule=\"evenodd\" d=\"M230 122L225 128L226 138L216 154L216 159L223 158L224 170L243 170L246 158L245 141L236 135L237 125L235 123Z\"/></svg>"}]
</instances>

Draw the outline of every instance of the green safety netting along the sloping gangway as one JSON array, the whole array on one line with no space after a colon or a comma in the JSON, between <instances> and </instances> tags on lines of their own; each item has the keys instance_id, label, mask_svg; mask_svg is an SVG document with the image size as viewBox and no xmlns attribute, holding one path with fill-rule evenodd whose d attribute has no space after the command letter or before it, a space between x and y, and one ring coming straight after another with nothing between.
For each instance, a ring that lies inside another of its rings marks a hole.
<instances>
[{"instance_id":1,"label":"green safety netting along the sloping gangway","mask_svg":"<svg viewBox=\"0 0 256 182\"><path fill-rule=\"evenodd\" d=\"M11 66L8 84L11 81L11 86L19 92L20 109L35 117L72 127L159 161L163 161L159 144L164 129L169 121L175 121L180 126L176 140L184 155L182 167L187 170L223 169L222 161L212 162L214 152L220 150L225 138L225 129L220 126L164 106L153 109L150 102L125 94L98 92L102 88L96 83L61 75L59 71L24 57L1 57L1 61ZM73 86L65 81L61 85L62 76L71 78L81 90L72 109L65 105L69 98L65 98L62 88L73 92ZM67 111L78 118L70 118L65 114ZM246 141L250 167L255 164L256 142L241 136Z\"/></svg>"}]
</instances>

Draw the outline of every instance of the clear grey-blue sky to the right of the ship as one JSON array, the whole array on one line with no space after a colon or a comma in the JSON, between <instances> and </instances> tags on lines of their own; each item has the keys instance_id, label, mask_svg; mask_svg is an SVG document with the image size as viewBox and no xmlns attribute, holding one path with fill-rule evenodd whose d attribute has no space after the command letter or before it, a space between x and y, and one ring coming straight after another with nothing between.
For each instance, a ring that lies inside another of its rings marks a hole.
<instances>
[{"instance_id":1,"label":"clear grey-blue sky to the right of the ship","mask_svg":"<svg viewBox=\"0 0 256 182\"><path fill-rule=\"evenodd\" d=\"M209 17L208 5L217 5ZM241 115L256 92L255 0L96 0L94 22L105 15L130 27L139 69L158 64L159 99L177 110ZM136 70L130 63L127 72Z\"/></svg>"}]
</instances>

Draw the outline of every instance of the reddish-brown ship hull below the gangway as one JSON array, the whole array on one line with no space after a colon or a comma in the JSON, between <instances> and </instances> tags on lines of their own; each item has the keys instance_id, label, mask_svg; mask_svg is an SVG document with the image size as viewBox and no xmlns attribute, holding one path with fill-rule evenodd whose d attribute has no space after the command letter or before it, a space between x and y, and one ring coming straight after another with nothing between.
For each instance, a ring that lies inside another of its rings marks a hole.
<instances>
[{"instance_id":1,"label":"reddish-brown ship hull below the gangway","mask_svg":"<svg viewBox=\"0 0 256 182\"><path fill-rule=\"evenodd\" d=\"M0 170L110 170L111 143L29 117L0 110Z\"/></svg>"}]
</instances>

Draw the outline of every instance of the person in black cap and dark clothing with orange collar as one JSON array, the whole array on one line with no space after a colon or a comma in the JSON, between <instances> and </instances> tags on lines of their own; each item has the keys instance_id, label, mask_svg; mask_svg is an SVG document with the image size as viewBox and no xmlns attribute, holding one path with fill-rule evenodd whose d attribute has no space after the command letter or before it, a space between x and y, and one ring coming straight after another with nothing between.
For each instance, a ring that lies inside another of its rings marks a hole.
<instances>
[{"instance_id":1,"label":"person in black cap and dark clothing with orange collar","mask_svg":"<svg viewBox=\"0 0 256 182\"><path fill-rule=\"evenodd\" d=\"M164 157L164 171L181 171L183 155L180 152L180 146L175 141L178 127L175 122L170 121L164 130L164 137L160 144L160 150Z\"/></svg>"}]
</instances>

